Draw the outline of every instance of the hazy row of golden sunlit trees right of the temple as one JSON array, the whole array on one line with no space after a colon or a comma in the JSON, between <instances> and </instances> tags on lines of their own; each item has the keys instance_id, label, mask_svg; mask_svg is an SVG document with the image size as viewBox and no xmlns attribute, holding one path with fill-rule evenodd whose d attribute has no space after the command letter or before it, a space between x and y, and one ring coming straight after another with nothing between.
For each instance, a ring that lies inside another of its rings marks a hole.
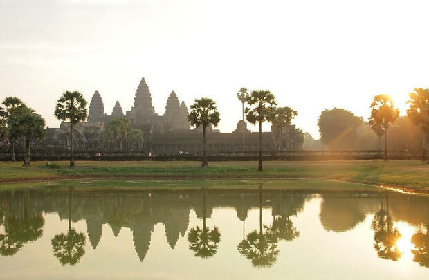
<instances>
[{"instance_id":1,"label":"hazy row of golden sunlit trees right of the temple","mask_svg":"<svg viewBox=\"0 0 429 280\"><path fill-rule=\"evenodd\" d=\"M387 147L421 152L426 160L426 135L429 133L429 89L416 88L409 94L406 116L399 116L390 95L376 95L370 104L368 122L345 109L322 111L318 120L320 142L328 149L374 149ZM390 138L387 135L390 135ZM321 143L306 135L306 149L320 149ZM307 145L306 145L307 144Z\"/></svg>"}]
</instances>

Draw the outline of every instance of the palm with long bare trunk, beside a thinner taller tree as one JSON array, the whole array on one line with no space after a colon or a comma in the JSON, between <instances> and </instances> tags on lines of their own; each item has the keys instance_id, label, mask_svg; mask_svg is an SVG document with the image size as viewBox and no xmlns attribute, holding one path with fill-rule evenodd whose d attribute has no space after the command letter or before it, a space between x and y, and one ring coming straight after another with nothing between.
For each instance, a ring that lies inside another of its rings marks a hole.
<instances>
[{"instance_id":1,"label":"palm with long bare trunk, beside a thinner taller tree","mask_svg":"<svg viewBox=\"0 0 429 280\"><path fill-rule=\"evenodd\" d=\"M262 171L262 122L271 122L273 109L277 105L275 97L270 91L252 91L246 102L249 105L244 112L251 124L259 123L259 163L258 170Z\"/></svg>"}]
</instances>

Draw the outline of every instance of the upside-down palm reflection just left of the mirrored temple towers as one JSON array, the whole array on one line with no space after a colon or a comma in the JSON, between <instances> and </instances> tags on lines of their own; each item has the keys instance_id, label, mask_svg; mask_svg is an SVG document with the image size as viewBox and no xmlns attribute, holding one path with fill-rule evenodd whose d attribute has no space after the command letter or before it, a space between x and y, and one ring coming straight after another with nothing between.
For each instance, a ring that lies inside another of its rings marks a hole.
<instances>
[{"instance_id":1,"label":"upside-down palm reflection just left of the mirrored temple towers","mask_svg":"<svg viewBox=\"0 0 429 280\"><path fill-rule=\"evenodd\" d=\"M86 236L71 228L71 203L73 188L69 188L69 231L57 234L51 240L53 255L62 265L76 265L85 254Z\"/></svg>"}]
</instances>

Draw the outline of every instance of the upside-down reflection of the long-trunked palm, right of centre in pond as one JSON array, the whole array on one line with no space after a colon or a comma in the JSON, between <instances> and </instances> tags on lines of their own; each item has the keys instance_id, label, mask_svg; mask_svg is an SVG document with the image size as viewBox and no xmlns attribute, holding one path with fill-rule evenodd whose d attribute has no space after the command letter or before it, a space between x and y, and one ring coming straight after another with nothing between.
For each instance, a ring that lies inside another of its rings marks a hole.
<instances>
[{"instance_id":1,"label":"upside-down reflection of the long-trunked palm, right of centre in pond","mask_svg":"<svg viewBox=\"0 0 429 280\"><path fill-rule=\"evenodd\" d=\"M263 228L266 229L264 233ZM262 184L259 184L259 233L257 230L249 232L237 246L240 254L250 259L252 265L258 268L269 268L277 261L278 238L273 227L266 227L262 223Z\"/></svg>"}]
</instances>

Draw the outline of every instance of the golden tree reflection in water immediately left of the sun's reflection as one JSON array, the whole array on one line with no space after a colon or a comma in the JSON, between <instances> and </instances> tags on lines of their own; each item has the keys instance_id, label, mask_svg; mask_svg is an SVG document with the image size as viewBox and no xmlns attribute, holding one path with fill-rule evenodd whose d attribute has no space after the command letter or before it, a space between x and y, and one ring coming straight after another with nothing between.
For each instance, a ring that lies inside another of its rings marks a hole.
<instances>
[{"instance_id":1,"label":"golden tree reflection in water immediately left of the sun's reflection","mask_svg":"<svg viewBox=\"0 0 429 280\"><path fill-rule=\"evenodd\" d=\"M401 257L396 244L401 238L399 231L393 227L392 218L389 215L389 197L385 194L386 209L383 209L383 201L381 201L381 209L374 214L372 220L372 229L374 233L374 248L379 257L382 259L391 259L397 261Z\"/></svg>"}]
</instances>

